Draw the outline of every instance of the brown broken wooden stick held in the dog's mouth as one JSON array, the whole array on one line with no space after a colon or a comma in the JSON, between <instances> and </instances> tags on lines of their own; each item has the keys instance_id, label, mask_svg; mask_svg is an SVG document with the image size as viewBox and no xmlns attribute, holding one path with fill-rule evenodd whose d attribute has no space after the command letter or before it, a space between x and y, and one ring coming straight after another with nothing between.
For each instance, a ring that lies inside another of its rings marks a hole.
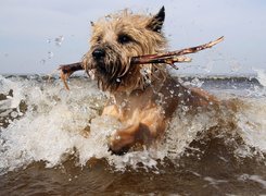
<instances>
[{"instance_id":1,"label":"brown broken wooden stick held in the dog's mouth","mask_svg":"<svg viewBox=\"0 0 266 196\"><path fill-rule=\"evenodd\" d=\"M185 48L181 50L176 50L166 53L155 53L155 54L147 54L147 56L138 56L132 57L130 59L131 64L151 64L151 63L166 63L169 64L172 68L178 70L175 63L181 62L191 62L191 58L185 57L188 53L195 53L201 50L205 50L207 48L212 48L213 46L217 45L218 42L224 40L224 36L219 37L214 41L210 41L204 45L200 45L192 48ZM76 71L84 70L81 62L76 62L72 64L64 64L59 68L61 71L61 79L63 81L65 88L69 90L68 85L66 84L66 79Z\"/></svg>"}]
</instances>

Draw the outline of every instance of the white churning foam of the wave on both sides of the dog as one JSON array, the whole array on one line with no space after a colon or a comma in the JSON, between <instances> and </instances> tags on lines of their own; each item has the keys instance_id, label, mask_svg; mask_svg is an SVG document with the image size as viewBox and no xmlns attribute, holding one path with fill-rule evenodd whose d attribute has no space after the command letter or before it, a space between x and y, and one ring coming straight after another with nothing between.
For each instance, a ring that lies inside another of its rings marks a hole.
<instances>
[{"instance_id":1,"label":"white churning foam of the wave on both sides of the dog","mask_svg":"<svg viewBox=\"0 0 266 196\"><path fill-rule=\"evenodd\" d=\"M177 159L199 133L217 124L212 111L195 115L187 114L186 110L177 111L161 143L149 149L114 156L107 151L109 135L123 125L112 118L99 117L106 97L94 83L74 79L71 91L67 91L60 81L39 83L36 79L0 76L0 85L4 95L13 89L13 97L0 105L5 112L12 113L22 100L27 105L27 111L21 119L12 121L7 128L1 127L0 171L14 170L33 161L45 161L47 167L54 167L64 161L65 155L72 154L78 157L79 164L86 164L91 158L104 158L117 170L127 166L156 169L159 160L166 157ZM237 113L238 132L246 145L264 151L265 102L265 99L249 99L249 107L241 108ZM85 137L83 131L88 125L90 133Z\"/></svg>"}]
</instances>

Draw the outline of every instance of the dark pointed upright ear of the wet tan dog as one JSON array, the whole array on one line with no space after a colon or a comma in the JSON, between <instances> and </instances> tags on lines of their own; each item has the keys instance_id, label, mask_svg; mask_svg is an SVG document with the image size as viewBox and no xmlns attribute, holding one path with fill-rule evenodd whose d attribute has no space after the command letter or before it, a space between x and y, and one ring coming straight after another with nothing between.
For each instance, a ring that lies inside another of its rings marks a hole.
<instances>
[{"instance_id":1,"label":"dark pointed upright ear of the wet tan dog","mask_svg":"<svg viewBox=\"0 0 266 196\"><path fill-rule=\"evenodd\" d=\"M149 21L147 28L161 33L161 29L164 24L164 19L165 19L165 9L164 7L162 7L159 13Z\"/></svg>"}]
</instances>

